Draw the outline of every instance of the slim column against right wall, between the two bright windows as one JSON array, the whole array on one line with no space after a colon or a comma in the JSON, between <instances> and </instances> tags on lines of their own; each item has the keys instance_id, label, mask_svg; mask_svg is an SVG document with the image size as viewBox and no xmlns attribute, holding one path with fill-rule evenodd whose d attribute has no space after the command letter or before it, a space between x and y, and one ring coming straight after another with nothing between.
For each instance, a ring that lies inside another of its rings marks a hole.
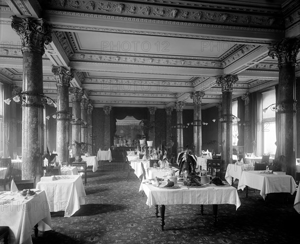
<instances>
[{"instance_id":1,"label":"slim column against right wall, between the two bright windows","mask_svg":"<svg viewBox=\"0 0 300 244\"><path fill-rule=\"evenodd\" d=\"M250 95L249 93L245 93L241 95L241 99L244 101L244 121L242 123L242 129L244 131L244 150L243 152L250 152L252 151L252 142L251 142L251 138L250 138L250 122L249 122L249 118L250 118L250 111L249 111L249 101L250 101Z\"/></svg>"}]
</instances>

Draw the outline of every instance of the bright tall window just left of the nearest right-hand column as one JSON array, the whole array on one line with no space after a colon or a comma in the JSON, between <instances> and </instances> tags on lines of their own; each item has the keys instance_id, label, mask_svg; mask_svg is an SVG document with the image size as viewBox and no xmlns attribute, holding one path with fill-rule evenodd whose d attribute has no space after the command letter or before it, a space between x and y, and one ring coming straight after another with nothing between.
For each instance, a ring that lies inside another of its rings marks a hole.
<instances>
[{"instance_id":1,"label":"bright tall window just left of the nearest right-hand column","mask_svg":"<svg viewBox=\"0 0 300 244\"><path fill-rule=\"evenodd\" d=\"M262 92L262 108L276 103L275 89ZM269 107L262 111L262 151L274 155L276 152L275 111Z\"/></svg>"}]
</instances>

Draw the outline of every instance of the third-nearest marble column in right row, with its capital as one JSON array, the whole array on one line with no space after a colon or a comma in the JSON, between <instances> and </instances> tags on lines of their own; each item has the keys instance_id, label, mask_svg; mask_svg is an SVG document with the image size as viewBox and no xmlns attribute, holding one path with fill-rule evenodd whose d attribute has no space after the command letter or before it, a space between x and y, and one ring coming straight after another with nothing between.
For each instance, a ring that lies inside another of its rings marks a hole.
<instances>
[{"instance_id":1,"label":"third-nearest marble column in right row, with its capital","mask_svg":"<svg viewBox=\"0 0 300 244\"><path fill-rule=\"evenodd\" d=\"M202 154L202 120L201 120L201 103L205 95L203 91L191 92L189 97L193 102L193 144L194 154L200 156Z\"/></svg>"}]
</instances>

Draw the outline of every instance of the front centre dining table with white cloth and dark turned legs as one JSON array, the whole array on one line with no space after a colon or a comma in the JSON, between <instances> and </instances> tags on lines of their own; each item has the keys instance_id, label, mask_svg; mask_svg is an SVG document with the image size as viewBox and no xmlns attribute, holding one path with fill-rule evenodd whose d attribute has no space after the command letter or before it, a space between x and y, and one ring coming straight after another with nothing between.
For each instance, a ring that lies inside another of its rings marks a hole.
<instances>
[{"instance_id":1,"label":"front centre dining table with white cloth and dark turned legs","mask_svg":"<svg viewBox=\"0 0 300 244\"><path fill-rule=\"evenodd\" d=\"M234 204L235 209L240 206L240 200L236 188L225 183L224 185L203 184L198 187L184 186L182 183L173 187L156 187L147 182L142 183L142 190L147 196L146 204L155 208L158 216L158 205L160 205L160 226L163 230L165 222L165 205L174 204L199 204L201 214L203 205L211 204L214 215L214 223L217 222L217 206L219 204Z\"/></svg>"}]
</instances>

